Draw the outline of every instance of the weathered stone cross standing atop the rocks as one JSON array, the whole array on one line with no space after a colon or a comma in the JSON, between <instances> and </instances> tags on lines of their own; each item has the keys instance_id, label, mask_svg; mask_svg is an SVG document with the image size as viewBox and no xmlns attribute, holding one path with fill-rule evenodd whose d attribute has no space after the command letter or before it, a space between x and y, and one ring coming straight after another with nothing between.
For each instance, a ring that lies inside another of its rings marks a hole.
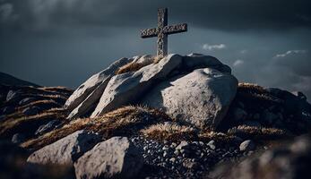
<instances>
[{"instance_id":1,"label":"weathered stone cross standing atop the rocks","mask_svg":"<svg viewBox=\"0 0 311 179\"><path fill-rule=\"evenodd\" d=\"M163 57L168 55L168 35L184 32L187 30L186 23L168 26L168 8L158 9L158 27L141 30L142 38L153 38L158 36L157 55Z\"/></svg>"}]
</instances>

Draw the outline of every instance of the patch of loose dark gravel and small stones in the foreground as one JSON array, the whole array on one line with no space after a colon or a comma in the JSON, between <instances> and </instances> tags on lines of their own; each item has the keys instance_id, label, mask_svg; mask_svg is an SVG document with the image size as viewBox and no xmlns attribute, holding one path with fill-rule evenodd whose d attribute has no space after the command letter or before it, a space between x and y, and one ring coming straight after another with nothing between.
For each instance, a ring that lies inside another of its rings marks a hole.
<instances>
[{"instance_id":1,"label":"patch of loose dark gravel and small stones in the foreground","mask_svg":"<svg viewBox=\"0 0 311 179\"><path fill-rule=\"evenodd\" d=\"M235 146L216 148L215 141L158 142L134 136L131 141L143 149L144 163L152 168L144 178L201 178L217 163L243 157L245 154Z\"/></svg>"}]
</instances>

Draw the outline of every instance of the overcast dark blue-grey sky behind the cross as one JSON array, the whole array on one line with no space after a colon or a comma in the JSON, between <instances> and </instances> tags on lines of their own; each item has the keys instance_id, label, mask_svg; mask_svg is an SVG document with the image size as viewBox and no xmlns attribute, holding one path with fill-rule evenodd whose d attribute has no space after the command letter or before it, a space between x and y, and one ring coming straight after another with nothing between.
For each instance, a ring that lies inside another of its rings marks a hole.
<instances>
[{"instance_id":1,"label":"overcast dark blue-grey sky behind the cross","mask_svg":"<svg viewBox=\"0 0 311 179\"><path fill-rule=\"evenodd\" d=\"M0 71L76 88L120 57L155 54L157 8L188 31L168 52L214 55L239 81L311 98L310 0L0 0Z\"/></svg>"}]
</instances>

